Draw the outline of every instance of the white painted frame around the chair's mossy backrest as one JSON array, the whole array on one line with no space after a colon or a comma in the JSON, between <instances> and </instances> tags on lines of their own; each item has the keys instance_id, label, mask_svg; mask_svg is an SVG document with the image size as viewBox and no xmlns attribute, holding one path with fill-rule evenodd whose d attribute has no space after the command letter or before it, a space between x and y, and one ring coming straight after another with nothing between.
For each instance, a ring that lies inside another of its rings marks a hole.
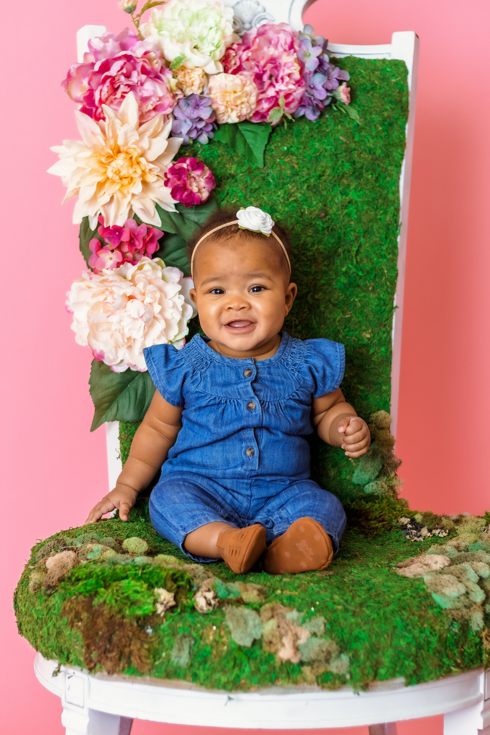
<instances>
[{"instance_id":1,"label":"white painted frame around the chair's mossy backrest","mask_svg":"<svg viewBox=\"0 0 490 735\"><path fill-rule=\"evenodd\" d=\"M242 35L251 27L263 23L289 23L294 29L303 27L303 12L315 0L292 0L284 3L281 0L224 0L224 4L234 8L235 26ZM87 43L91 37L101 35L105 26L87 25L76 33L77 57L83 61L87 51ZM398 235L398 276L394 295L396 309L392 323L392 374L391 374L391 414L393 417L392 433L396 436L398 390L400 382L400 351L403 321L403 290L405 280L406 237L408 225L408 203L411 179L411 161L414 142L415 99L417 92L417 67L419 57L419 39L413 31L394 32L392 43L377 46L354 46L328 43L328 49L335 57L354 56L365 59L397 59L403 60L408 69L409 107L406 125L406 151L400 173L400 233ZM107 427L107 461L109 470L109 487L115 486L120 473L118 422L106 424Z\"/></svg>"}]
</instances>

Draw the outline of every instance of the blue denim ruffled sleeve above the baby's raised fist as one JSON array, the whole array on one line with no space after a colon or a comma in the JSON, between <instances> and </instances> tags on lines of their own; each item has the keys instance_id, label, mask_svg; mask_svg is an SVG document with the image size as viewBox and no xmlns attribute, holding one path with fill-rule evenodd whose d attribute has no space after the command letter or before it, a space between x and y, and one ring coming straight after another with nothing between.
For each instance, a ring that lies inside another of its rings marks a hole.
<instances>
[{"instance_id":1,"label":"blue denim ruffled sleeve above the baby's raised fist","mask_svg":"<svg viewBox=\"0 0 490 735\"><path fill-rule=\"evenodd\" d=\"M305 362L314 381L314 398L331 393L342 383L345 348L331 340L306 340Z\"/></svg>"}]
</instances>

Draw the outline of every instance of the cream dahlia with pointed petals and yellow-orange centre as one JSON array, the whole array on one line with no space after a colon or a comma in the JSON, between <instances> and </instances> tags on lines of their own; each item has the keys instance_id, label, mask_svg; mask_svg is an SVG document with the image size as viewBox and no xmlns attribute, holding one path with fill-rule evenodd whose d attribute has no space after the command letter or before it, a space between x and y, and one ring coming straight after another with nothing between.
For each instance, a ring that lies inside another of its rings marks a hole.
<instances>
[{"instance_id":1,"label":"cream dahlia with pointed petals and yellow-orange centre","mask_svg":"<svg viewBox=\"0 0 490 735\"><path fill-rule=\"evenodd\" d=\"M76 110L76 122L82 140L65 140L51 151L60 160L48 173L61 176L68 191L63 202L78 195L73 223L88 217L96 229L98 215L107 227L122 226L138 215L151 225L162 224L155 202L170 212L174 200L165 187L163 175L182 143L182 138L168 138L172 121L164 123L160 113L140 126L138 103L130 92L120 106L103 106L105 120L96 122Z\"/></svg>"}]
</instances>

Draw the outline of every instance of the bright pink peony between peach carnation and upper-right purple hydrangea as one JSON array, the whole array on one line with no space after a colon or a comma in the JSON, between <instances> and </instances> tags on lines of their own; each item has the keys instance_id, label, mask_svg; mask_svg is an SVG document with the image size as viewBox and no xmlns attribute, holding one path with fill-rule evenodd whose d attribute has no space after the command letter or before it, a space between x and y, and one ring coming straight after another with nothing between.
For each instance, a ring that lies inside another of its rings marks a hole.
<instances>
[{"instance_id":1,"label":"bright pink peony between peach carnation and upper-right purple hydrangea","mask_svg":"<svg viewBox=\"0 0 490 735\"><path fill-rule=\"evenodd\" d=\"M287 23L265 23L226 49L222 59L225 71L248 76L256 84L257 105L250 118L254 123L267 121L270 110L279 107L281 96L286 112L298 108L305 91L299 48L298 36Z\"/></svg>"}]
</instances>

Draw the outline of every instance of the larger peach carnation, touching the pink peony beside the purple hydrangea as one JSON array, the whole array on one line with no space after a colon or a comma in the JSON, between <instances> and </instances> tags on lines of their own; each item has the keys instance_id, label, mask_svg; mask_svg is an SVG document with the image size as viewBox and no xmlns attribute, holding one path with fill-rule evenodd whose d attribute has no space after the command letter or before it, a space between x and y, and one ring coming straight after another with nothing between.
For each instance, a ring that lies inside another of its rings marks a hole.
<instances>
[{"instance_id":1,"label":"larger peach carnation, touching the pink peony beside the purple hydrangea","mask_svg":"<svg viewBox=\"0 0 490 735\"><path fill-rule=\"evenodd\" d=\"M215 74L208 96L218 123L239 123L255 112L257 87L245 74Z\"/></svg>"}]
</instances>

